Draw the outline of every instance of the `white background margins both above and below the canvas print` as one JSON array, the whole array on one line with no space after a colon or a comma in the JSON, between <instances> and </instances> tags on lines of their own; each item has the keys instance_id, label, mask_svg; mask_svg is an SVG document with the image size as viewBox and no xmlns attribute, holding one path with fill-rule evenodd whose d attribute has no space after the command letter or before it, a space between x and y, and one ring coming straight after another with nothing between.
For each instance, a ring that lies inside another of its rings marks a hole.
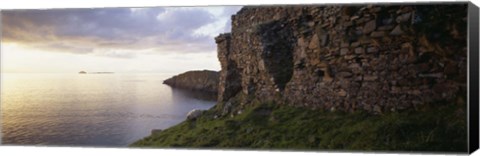
<instances>
[{"instance_id":1,"label":"white background margins both above and below the canvas print","mask_svg":"<svg viewBox=\"0 0 480 156\"><path fill-rule=\"evenodd\" d=\"M430 0L431 1L431 0ZM479 4L479 0L473 3ZM429 0L205 0L205 1L160 1L160 0L3 0L0 2L0 9L50 9L50 8L101 8L101 7L152 7L152 6L206 6L206 5L258 5L258 4L331 4L331 3L408 3L408 2L429 2ZM448 0L435 0L435 2L451 2ZM477 5L478 6L478 5ZM234 150L178 150L178 149L127 149L127 148L78 148L78 147L22 147L22 146L0 146L1 155L115 155L115 156L147 156L147 155L195 155L195 156L250 156L250 155L275 155L275 156L311 156L311 155L419 155L427 156L433 154L385 154L385 153L328 153L328 152L272 152L272 151L234 151ZM475 155L480 155L476 152Z\"/></svg>"}]
</instances>

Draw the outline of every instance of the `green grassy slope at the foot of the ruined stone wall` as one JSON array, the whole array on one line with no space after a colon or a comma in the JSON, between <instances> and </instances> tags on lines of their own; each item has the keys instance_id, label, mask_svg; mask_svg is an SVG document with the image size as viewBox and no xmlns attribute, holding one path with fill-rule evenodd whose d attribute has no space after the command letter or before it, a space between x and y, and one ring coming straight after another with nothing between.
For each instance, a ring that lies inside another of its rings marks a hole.
<instances>
[{"instance_id":1,"label":"green grassy slope at the foot of the ruined stone wall","mask_svg":"<svg viewBox=\"0 0 480 156\"><path fill-rule=\"evenodd\" d=\"M215 108L133 143L133 147L301 150L467 150L464 109L371 115L255 104L234 117L213 119Z\"/></svg>"}]
</instances>

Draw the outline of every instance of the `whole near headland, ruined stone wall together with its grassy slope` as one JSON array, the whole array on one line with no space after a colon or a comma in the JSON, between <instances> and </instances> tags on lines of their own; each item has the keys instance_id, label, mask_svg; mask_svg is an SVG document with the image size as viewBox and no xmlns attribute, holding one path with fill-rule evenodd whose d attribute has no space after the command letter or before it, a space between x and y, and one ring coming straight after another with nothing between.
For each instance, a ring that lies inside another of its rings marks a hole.
<instances>
[{"instance_id":1,"label":"whole near headland, ruined stone wall together with its grassy slope","mask_svg":"<svg viewBox=\"0 0 480 156\"><path fill-rule=\"evenodd\" d=\"M244 7L218 103L131 146L466 153L467 10Z\"/></svg>"}]
</instances>

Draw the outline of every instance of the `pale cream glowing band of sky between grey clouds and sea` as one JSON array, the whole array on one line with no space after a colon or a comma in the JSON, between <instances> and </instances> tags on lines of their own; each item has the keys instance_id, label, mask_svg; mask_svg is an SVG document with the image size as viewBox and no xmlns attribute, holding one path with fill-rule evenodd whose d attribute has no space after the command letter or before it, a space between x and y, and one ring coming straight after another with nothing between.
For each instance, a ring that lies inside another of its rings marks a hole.
<instances>
[{"instance_id":1,"label":"pale cream glowing band of sky between grey clouds and sea","mask_svg":"<svg viewBox=\"0 0 480 156\"><path fill-rule=\"evenodd\" d=\"M141 53L134 58L112 58L32 49L17 43L2 43L2 73L181 73L193 69L219 70L215 52Z\"/></svg>"}]
</instances>

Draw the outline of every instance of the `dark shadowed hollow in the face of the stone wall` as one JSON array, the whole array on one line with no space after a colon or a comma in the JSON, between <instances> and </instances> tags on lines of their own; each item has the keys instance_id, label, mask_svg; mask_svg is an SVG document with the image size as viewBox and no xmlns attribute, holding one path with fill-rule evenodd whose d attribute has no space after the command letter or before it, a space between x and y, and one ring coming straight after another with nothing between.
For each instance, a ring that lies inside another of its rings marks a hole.
<instances>
[{"instance_id":1,"label":"dark shadowed hollow in the face of the stone wall","mask_svg":"<svg viewBox=\"0 0 480 156\"><path fill-rule=\"evenodd\" d=\"M286 23L273 21L259 26L265 69L275 85L284 90L293 75L293 32Z\"/></svg>"}]
</instances>

